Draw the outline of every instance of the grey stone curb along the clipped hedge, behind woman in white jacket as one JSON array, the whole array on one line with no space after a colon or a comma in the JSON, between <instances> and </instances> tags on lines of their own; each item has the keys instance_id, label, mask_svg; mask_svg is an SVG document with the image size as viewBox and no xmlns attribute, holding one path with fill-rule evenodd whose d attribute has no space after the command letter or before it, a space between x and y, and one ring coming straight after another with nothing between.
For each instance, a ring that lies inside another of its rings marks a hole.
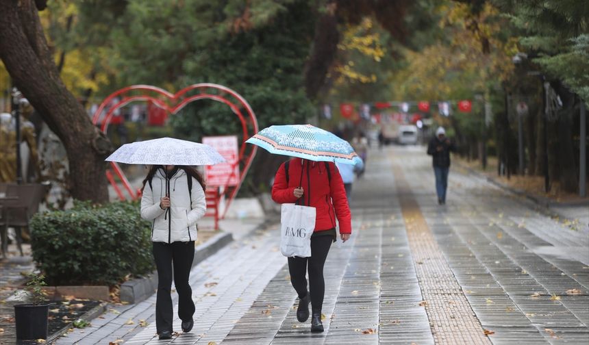
<instances>
[{"instance_id":1,"label":"grey stone curb along the clipped hedge, behind woman in white jacket","mask_svg":"<svg viewBox=\"0 0 589 345\"><path fill-rule=\"evenodd\" d=\"M231 233L218 233L206 243L199 244L195 248L195 259L192 260L192 267L201 263L221 248L233 241ZM146 277L131 279L121 284L121 302L136 304L145 301L149 296L155 294L158 289L158 272L153 271Z\"/></svg>"}]
</instances>

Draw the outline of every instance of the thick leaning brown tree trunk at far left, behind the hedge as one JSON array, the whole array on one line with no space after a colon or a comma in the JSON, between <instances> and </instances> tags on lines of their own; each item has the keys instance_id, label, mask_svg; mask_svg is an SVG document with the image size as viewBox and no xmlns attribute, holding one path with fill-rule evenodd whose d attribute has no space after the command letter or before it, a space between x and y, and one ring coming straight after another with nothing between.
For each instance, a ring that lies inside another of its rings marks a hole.
<instances>
[{"instance_id":1,"label":"thick leaning brown tree trunk at far left, behind the hedge","mask_svg":"<svg viewBox=\"0 0 589 345\"><path fill-rule=\"evenodd\" d=\"M34 1L0 1L0 13L0 58L14 84L64 144L71 195L108 201L104 158L112 146L60 79Z\"/></svg>"}]
</instances>

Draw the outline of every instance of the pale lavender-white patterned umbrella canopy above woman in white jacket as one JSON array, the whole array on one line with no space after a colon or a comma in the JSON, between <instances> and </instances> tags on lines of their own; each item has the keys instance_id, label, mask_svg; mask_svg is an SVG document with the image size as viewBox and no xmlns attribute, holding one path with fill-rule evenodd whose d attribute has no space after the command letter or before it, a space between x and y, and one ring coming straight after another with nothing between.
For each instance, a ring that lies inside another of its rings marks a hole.
<instances>
[{"instance_id":1,"label":"pale lavender-white patterned umbrella canopy above woman in white jacket","mask_svg":"<svg viewBox=\"0 0 589 345\"><path fill-rule=\"evenodd\" d=\"M131 142L105 159L108 162L150 165L201 166L225 162L211 146L174 138Z\"/></svg>"}]
</instances>

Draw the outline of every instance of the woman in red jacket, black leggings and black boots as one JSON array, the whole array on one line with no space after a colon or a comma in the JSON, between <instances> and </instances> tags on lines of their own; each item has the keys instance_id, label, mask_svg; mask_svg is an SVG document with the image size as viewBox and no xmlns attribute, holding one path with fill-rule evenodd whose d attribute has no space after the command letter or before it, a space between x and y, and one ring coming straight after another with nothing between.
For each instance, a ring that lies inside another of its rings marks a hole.
<instances>
[{"instance_id":1,"label":"woman in red jacket, black leggings and black boots","mask_svg":"<svg viewBox=\"0 0 589 345\"><path fill-rule=\"evenodd\" d=\"M288 168L288 171L286 170ZM312 307L311 331L323 332L321 308L325 295L323 265L331 242L336 241L336 218L343 242L350 238L351 214L344 183L336 165L293 158L278 168L272 187L272 199L277 203L295 203L316 208L315 230L311 236L311 257L289 257L290 283L299 294L297 319L309 318ZM309 291L305 274L309 269Z\"/></svg>"}]
</instances>

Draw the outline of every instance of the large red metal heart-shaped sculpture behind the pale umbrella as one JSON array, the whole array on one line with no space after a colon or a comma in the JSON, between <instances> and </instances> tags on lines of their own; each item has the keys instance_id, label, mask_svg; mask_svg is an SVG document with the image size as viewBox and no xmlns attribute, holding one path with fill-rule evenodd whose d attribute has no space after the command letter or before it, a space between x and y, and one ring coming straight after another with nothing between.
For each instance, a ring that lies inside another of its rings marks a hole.
<instances>
[{"instance_id":1,"label":"large red metal heart-shaped sculpture behind the pale umbrella","mask_svg":"<svg viewBox=\"0 0 589 345\"><path fill-rule=\"evenodd\" d=\"M114 112L120 107L123 107L124 105L127 105L131 102L151 101L170 114L176 114L188 103L198 101L199 99L212 99L214 101L226 104L231 108L234 114L238 116L238 119L242 125L243 141L239 149L238 159L240 164L239 183L237 186L231 188L229 188L229 186L225 186L225 188L223 188L223 192L218 196L223 197L225 194L229 193L229 198L227 199L225 207L225 212L227 212L229 205L231 205L231 201L233 201L237 195L237 192L242 184L243 179L245 178L245 175L247 174L247 170L249 170L249 167L251 166L251 162L253 161L253 157L255 156L255 152L258 148L258 146L246 145L245 143L245 140L249 139L255 133L258 133L258 120L255 118L255 114L253 113L253 110L247 101L245 101L245 99L234 90L218 84L203 83L193 84L183 88L182 90L179 90L175 94L172 94L155 86L128 86L127 88L122 88L121 90L113 92L101 103L92 117L92 123L95 125L100 123L101 130L106 133L108 131L108 125L111 123ZM247 117L244 116L243 111L247 112ZM101 115L103 113L105 113L105 116L103 116L101 119ZM246 153L246 149L248 147L250 148L250 151ZM123 172L121 167L114 162L111 163L111 167L116 175L118 175L118 178L123 182L123 186L131 196L131 199L136 199L138 197L138 192L131 188L127 177L125 177L125 172ZM114 186L118 196L124 200L125 196L121 192L120 188L118 188L118 185L116 185L110 170L107 171L107 178ZM222 219L223 216L225 216L225 214L221 215L219 218Z\"/></svg>"}]
</instances>

